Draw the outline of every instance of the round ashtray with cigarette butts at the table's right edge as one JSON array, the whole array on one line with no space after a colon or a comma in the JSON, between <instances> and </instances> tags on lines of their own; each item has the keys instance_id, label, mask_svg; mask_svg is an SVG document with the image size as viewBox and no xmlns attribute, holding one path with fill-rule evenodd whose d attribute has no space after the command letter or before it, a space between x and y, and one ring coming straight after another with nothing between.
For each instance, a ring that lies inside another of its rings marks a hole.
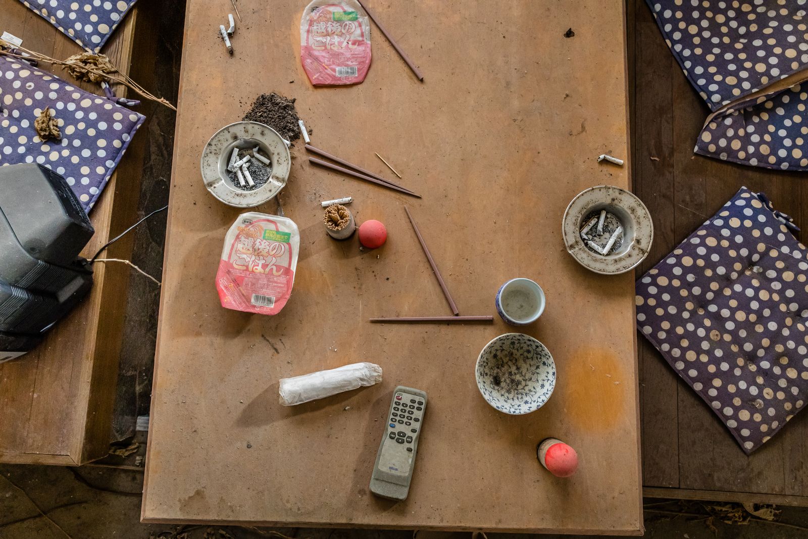
<instances>
[{"instance_id":1,"label":"round ashtray with cigarette butts at the table's right edge","mask_svg":"<svg viewBox=\"0 0 808 539\"><path fill-rule=\"evenodd\" d=\"M648 255L654 222L633 193L612 185L590 187L570 202L562 233L581 265L605 275L629 272Z\"/></svg>"}]
</instances>

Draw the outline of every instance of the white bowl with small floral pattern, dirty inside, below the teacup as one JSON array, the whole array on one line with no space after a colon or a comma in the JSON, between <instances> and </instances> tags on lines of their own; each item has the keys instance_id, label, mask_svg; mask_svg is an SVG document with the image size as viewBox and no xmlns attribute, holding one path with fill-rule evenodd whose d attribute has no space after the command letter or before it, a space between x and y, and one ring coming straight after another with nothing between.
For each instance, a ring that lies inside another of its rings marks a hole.
<instances>
[{"instance_id":1,"label":"white bowl with small floral pattern, dirty inside, below the teacup","mask_svg":"<svg viewBox=\"0 0 808 539\"><path fill-rule=\"evenodd\" d=\"M547 347L530 335L506 333L486 344L477 358L477 387L499 411L529 414L555 389L555 363Z\"/></svg>"}]
</instances>

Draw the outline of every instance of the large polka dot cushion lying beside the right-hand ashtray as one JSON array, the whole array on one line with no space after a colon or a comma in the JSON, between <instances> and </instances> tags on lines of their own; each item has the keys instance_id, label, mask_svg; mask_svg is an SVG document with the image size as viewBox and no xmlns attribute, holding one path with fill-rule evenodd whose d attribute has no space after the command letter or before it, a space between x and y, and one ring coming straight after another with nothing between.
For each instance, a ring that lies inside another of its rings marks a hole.
<instances>
[{"instance_id":1,"label":"large polka dot cushion lying beside the right-hand ashtray","mask_svg":"<svg viewBox=\"0 0 808 539\"><path fill-rule=\"evenodd\" d=\"M808 253L791 229L743 187L637 283L638 328L746 453L808 393Z\"/></svg>"}]
</instances>

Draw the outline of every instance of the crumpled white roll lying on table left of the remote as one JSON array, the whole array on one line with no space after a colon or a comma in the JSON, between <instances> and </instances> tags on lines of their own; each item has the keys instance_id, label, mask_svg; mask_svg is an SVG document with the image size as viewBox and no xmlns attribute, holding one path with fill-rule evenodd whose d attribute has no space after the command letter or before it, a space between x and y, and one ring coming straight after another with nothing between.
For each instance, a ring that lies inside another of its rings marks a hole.
<instances>
[{"instance_id":1,"label":"crumpled white roll lying on table left of the remote","mask_svg":"<svg viewBox=\"0 0 808 539\"><path fill-rule=\"evenodd\" d=\"M293 378L281 378L280 403L295 406L316 401L343 391L377 384L381 381L381 367L372 363L353 363L327 371L304 374Z\"/></svg>"}]
</instances>

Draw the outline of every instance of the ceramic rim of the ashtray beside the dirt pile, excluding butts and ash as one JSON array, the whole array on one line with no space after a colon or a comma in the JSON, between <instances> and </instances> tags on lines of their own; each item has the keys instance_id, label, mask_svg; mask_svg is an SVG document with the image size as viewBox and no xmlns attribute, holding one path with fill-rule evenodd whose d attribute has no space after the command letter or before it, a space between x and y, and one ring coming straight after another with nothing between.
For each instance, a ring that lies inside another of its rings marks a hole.
<instances>
[{"instance_id":1,"label":"ceramic rim of the ashtray beside the dirt pile, excluding butts and ash","mask_svg":"<svg viewBox=\"0 0 808 539\"><path fill-rule=\"evenodd\" d=\"M258 146L272 163L269 181L253 191L238 188L227 175L227 165L234 148ZM275 129L258 122L236 122L225 125L210 137L200 160L202 180L211 195L236 208L253 208L274 198L286 185L292 157L284 139Z\"/></svg>"}]
</instances>

